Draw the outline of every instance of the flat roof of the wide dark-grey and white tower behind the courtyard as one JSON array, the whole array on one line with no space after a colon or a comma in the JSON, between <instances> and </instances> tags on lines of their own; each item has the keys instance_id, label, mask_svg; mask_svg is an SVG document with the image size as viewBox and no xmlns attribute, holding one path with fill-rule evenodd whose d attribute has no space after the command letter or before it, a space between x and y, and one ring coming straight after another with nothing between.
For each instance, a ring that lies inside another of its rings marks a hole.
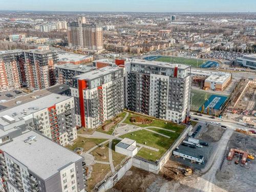
<instances>
[{"instance_id":1,"label":"flat roof of the wide dark-grey and white tower behind the courtyard","mask_svg":"<svg viewBox=\"0 0 256 192\"><path fill-rule=\"evenodd\" d=\"M161 61L148 61L148 60L143 60L143 59L132 59L128 60L131 63L138 63L142 65L152 65L152 66L157 66L157 67L166 67L166 68L175 68L179 67L179 69L187 69L190 68L190 66L186 66L183 64L171 64L168 62L161 62Z\"/></svg>"}]
</instances>

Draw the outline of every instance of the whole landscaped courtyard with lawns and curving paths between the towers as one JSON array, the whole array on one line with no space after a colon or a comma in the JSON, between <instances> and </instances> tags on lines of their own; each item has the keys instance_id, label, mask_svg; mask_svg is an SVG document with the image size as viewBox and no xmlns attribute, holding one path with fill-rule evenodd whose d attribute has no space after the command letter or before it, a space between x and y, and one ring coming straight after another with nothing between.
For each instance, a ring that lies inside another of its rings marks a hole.
<instances>
[{"instance_id":1,"label":"whole landscaped courtyard with lawns and curving paths between the towers","mask_svg":"<svg viewBox=\"0 0 256 192\"><path fill-rule=\"evenodd\" d=\"M102 129L104 125L107 125L108 130ZM135 140L138 147L137 156L155 162L164 155L185 129L184 124L166 122L127 111L108 120L104 125L97 130L79 130L78 138L73 145L66 146L72 151L82 147L81 155L92 158L87 164L92 168L88 178L89 191L107 174L114 173L115 169L120 168L125 161L125 155L115 152L115 145L121 139Z\"/></svg>"}]
</instances>

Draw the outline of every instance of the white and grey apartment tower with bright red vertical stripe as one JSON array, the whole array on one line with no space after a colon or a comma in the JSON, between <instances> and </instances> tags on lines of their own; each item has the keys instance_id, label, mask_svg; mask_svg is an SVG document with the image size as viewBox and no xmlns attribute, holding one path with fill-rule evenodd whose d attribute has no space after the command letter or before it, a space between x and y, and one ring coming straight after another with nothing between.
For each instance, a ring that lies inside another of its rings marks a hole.
<instances>
[{"instance_id":1,"label":"white and grey apartment tower with bright red vertical stripe","mask_svg":"<svg viewBox=\"0 0 256 192\"><path fill-rule=\"evenodd\" d=\"M124 109L123 68L105 67L73 77L76 124L95 128Z\"/></svg>"}]
</instances>

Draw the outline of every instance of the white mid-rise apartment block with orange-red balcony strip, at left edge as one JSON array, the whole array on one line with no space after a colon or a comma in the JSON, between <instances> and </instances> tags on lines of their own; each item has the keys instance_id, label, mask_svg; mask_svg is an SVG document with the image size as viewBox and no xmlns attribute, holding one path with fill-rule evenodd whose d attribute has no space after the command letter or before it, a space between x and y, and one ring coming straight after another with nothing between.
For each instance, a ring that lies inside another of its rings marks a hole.
<instances>
[{"instance_id":1,"label":"white mid-rise apartment block with orange-red balcony strip, at left edge","mask_svg":"<svg viewBox=\"0 0 256 192\"><path fill-rule=\"evenodd\" d=\"M15 130L30 129L61 145L70 144L77 138L74 104L73 97L50 94L3 110L0 134L8 141L19 134Z\"/></svg>"}]
</instances>

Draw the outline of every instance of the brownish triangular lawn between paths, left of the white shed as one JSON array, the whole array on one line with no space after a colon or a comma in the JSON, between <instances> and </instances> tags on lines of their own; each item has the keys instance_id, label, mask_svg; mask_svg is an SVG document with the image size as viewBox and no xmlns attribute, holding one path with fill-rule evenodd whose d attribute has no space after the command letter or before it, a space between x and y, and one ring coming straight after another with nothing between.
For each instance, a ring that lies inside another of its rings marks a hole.
<instances>
[{"instance_id":1,"label":"brownish triangular lawn between paths, left of the white shed","mask_svg":"<svg viewBox=\"0 0 256 192\"><path fill-rule=\"evenodd\" d=\"M67 145L66 147L70 150L74 150L76 147L83 147L84 151L87 152L90 148L104 142L107 139L95 139L95 138L85 138L77 137L73 145Z\"/></svg>"}]
</instances>

